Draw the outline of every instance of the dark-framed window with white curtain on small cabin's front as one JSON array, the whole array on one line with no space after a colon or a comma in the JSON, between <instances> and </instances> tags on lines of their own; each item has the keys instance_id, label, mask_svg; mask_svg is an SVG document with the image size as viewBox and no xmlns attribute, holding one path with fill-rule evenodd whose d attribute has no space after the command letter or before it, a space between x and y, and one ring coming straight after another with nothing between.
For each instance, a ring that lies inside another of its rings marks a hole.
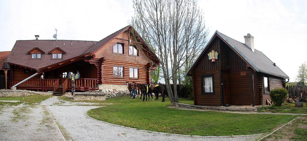
<instances>
[{"instance_id":1,"label":"dark-framed window with white curtain on small cabin's front","mask_svg":"<svg viewBox=\"0 0 307 141\"><path fill-rule=\"evenodd\" d=\"M205 75L201 77L202 94L213 94L213 75Z\"/></svg>"}]
</instances>

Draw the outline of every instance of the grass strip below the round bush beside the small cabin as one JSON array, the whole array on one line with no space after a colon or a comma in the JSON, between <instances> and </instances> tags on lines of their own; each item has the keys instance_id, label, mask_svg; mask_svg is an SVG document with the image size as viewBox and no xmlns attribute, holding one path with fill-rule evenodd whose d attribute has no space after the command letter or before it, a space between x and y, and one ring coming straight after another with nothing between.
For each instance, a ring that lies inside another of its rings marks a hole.
<instances>
[{"instance_id":1,"label":"grass strip below the round bush beside the small cabin","mask_svg":"<svg viewBox=\"0 0 307 141\"><path fill-rule=\"evenodd\" d=\"M273 113L301 113L307 114L307 105L304 103L303 108L296 108L295 103L284 103L282 106L265 106L257 109L258 112L273 112Z\"/></svg>"}]
</instances>

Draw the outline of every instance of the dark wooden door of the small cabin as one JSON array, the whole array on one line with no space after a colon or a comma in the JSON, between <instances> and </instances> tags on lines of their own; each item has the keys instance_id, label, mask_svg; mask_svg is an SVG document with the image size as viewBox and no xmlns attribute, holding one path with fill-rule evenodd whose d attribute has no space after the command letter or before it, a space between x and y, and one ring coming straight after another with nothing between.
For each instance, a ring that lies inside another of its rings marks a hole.
<instances>
[{"instance_id":1,"label":"dark wooden door of the small cabin","mask_svg":"<svg viewBox=\"0 0 307 141\"><path fill-rule=\"evenodd\" d=\"M223 100L224 100L223 104L231 104L229 73L222 72L222 83L223 83Z\"/></svg>"}]
</instances>

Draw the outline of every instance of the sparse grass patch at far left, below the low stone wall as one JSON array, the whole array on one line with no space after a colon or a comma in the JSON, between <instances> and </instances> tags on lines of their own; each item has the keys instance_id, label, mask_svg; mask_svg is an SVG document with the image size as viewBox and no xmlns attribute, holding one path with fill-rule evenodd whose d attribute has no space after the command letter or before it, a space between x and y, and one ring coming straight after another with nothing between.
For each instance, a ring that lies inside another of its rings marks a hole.
<instances>
[{"instance_id":1,"label":"sparse grass patch at far left, below the low stone wall","mask_svg":"<svg viewBox=\"0 0 307 141\"><path fill-rule=\"evenodd\" d=\"M26 105L39 104L52 97L51 95L32 95L32 96L21 96L21 97L0 97L0 100L19 100L20 102L0 102L0 105L19 105L24 103Z\"/></svg>"}]
</instances>

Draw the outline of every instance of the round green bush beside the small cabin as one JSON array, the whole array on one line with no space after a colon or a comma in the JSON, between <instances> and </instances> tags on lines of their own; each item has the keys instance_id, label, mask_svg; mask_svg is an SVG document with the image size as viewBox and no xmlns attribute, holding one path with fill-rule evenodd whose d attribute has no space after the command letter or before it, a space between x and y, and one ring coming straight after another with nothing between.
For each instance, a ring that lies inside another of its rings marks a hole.
<instances>
[{"instance_id":1,"label":"round green bush beside the small cabin","mask_svg":"<svg viewBox=\"0 0 307 141\"><path fill-rule=\"evenodd\" d=\"M271 99L276 106L282 106L282 103L287 98L288 91L285 88L275 88L270 91Z\"/></svg>"}]
</instances>

